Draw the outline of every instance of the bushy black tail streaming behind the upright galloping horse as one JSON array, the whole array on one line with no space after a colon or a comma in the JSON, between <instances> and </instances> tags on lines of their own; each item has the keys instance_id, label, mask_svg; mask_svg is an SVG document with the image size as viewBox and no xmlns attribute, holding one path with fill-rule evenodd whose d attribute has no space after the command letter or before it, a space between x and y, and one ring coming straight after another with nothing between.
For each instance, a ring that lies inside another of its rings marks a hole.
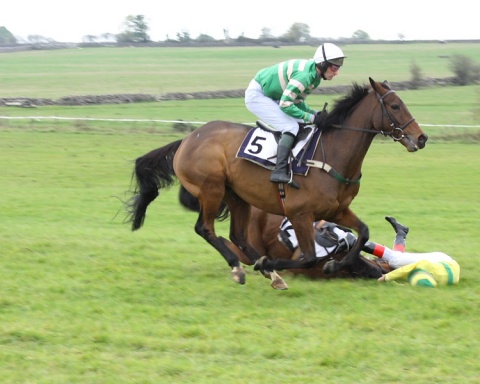
<instances>
[{"instance_id":1,"label":"bushy black tail streaming behind the upright galloping horse","mask_svg":"<svg viewBox=\"0 0 480 384\"><path fill-rule=\"evenodd\" d=\"M169 188L176 181L173 157L182 140L174 141L135 160L132 181L136 181L133 196L126 203L132 231L145 221L148 205L157 198L161 188Z\"/></svg>"}]
</instances>

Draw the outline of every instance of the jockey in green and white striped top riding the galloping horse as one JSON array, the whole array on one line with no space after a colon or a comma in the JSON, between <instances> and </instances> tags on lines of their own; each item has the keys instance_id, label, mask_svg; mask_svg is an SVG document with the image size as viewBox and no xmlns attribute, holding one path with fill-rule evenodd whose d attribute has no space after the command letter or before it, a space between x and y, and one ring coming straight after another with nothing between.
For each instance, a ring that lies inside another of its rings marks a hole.
<instances>
[{"instance_id":1,"label":"jockey in green and white striped top riding the galloping horse","mask_svg":"<svg viewBox=\"0 0 480 384\"><path fill-rule=\"evenodd\" d=\"M324 115L310 108L305 98L323 80L332 80L343 65L345 55L332 43L320 45L312 59L292 59L261 69L245 91L247 109L260 120L282 132L277 163L270 181L295 188L288 172L288 158L299 123L319 125Z\"/></svg>"}]
</instances>

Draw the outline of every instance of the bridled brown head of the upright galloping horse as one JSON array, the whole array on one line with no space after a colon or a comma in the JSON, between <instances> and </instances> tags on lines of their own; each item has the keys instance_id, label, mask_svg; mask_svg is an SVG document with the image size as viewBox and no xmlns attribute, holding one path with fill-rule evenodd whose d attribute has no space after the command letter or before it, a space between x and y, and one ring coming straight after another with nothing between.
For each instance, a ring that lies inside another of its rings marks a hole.
<instances>
[{"instance_id":1,"label":"bridled brown head of the upright galloping horse","mask_svg":"<svg viewBox=\"0 0 480 384\"><path fill-rule=\"evenodd\" d=\"M378 83L371 77L370 84L380 103L381 114L374 119L373 126L385 136L402 143L409 152L425 147L428 136L422 131L408 111L402 99L387 82Z\"/></svg>"}]
</instances>

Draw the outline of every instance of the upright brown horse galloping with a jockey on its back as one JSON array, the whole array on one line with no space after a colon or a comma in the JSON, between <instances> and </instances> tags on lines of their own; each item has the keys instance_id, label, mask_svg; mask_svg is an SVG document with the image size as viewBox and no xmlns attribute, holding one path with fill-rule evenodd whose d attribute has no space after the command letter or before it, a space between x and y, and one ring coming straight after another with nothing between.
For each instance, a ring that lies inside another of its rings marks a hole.
<instances>
[{"instance_id":1,"label":"upright brown horse galloping with a jockey on its back","mask_svg":"<svg viewBox=\"0 0 480 384\"><path fill-rule=\"evenodd\" d=\"M312 268L316 264L312 222L335 222L357 232L357 242L340 261L331 260L324 271L333 273L358 259L369 238L368 227L349 208L359 191L363 159L376 134L400 142L409 152L425 146L427 136L403 101L386 83L370 78L371 89L353 84L324 121L319 146L307 177L295 176L300 189L279 187L269 181L270 171L236 158L251 127L212 121L183 140L170 143L136 160L137 187L129 202L132 230L143 224L148 205L158 189L175 177L193 195L199 217L195 231L211 244L232 268L235 281L245 283L239 253L269 275L274 269ZM215 233L215 219L226 204L231 215L230 241ZM295 229L304 257L301 260L261 257L247 241L250 207L287 216Z\"/></svg>"}]
</instances>

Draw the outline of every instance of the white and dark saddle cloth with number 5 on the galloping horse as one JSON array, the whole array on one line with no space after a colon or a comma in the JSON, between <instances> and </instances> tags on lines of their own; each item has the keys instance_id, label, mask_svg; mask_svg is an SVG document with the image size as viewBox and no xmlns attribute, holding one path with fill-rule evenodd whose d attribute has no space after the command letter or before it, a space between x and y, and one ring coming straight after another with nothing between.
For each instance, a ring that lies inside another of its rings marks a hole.
<instances>
[{"instance_id":1,"label":"white and dark saddle cloth with number 5 on the galloping horse","mask_svg":"<svg viewBox=\"0 0 480 384\"><path fill-rule=\"evenodd\" d=\"M311 126L300 129L292 149L293 173L307 175L310 167L305 165L305 161L312 159L320 133L319 129ZM236 157L273 170L277 162L277 136L279 134L280 132L271 132L259 127L252 128L240 145Z\"/></svg>"}]
</instances>

